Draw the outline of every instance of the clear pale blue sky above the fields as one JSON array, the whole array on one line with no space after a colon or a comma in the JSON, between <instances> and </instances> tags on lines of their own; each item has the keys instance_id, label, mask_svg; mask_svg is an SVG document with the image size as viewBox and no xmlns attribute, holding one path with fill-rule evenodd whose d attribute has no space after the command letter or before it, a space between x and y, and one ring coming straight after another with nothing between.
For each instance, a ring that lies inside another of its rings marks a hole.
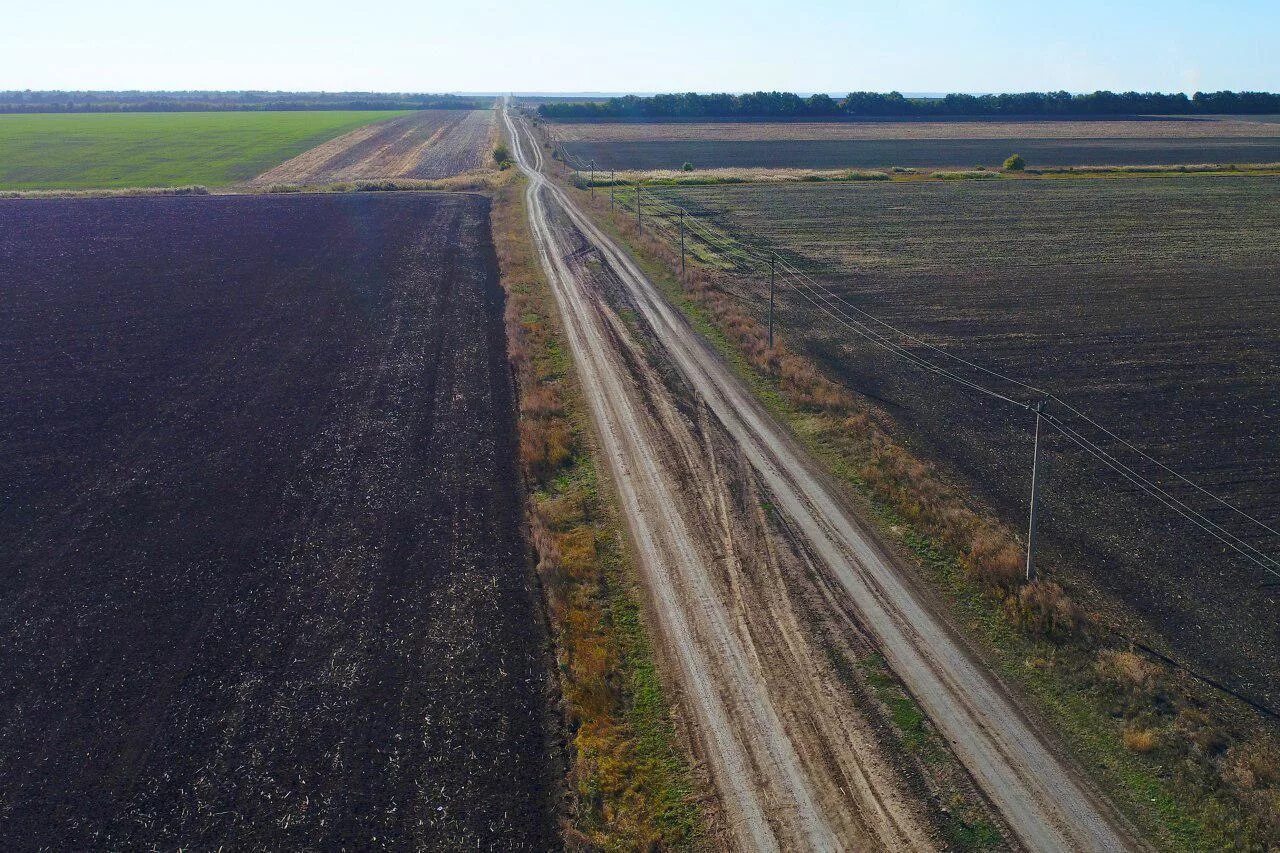
<instances>
[{"instance_id":1,"label":"clear pale blue sky above the fields","mask_svg":"<svg viewBox=\"0 0 1280 853\"><path fill-rule=\"evenodd\" d=\"M1280 0L15 1L0 88L1280 90Z\"/></svg>"}]
</instances>

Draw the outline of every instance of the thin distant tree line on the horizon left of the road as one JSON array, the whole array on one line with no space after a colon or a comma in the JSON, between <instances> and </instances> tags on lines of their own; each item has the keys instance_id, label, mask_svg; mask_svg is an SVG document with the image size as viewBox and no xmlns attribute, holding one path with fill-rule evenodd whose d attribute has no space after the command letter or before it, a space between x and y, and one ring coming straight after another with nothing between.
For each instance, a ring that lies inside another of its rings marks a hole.
<instances>
[{"instance_id":1,"label":"thin distant tree line on the horizon left of the road","mask_svg":"<svg viewBox=\"0 0 1280 853\"><path fill-rule=\"evenodd\" d=\"M484 109L492 97L407 92L0 91L0 113Z\"/></svg>"}]
</instances>

